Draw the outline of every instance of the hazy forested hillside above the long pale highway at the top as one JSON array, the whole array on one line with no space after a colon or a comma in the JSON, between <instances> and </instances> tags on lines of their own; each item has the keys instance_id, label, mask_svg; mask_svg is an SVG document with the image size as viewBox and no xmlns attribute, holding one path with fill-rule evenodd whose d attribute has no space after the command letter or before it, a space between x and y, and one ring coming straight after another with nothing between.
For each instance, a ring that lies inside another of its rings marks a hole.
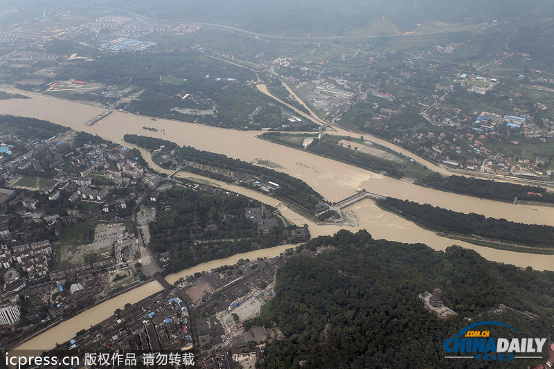
<instances>
[{"instance_id":1,"label":"hazy forested hillside above the long pale highway at the top","mask_svg":"<svg viewBox=\"0 0 554 369\"><path fill-rule=\"evenodd\" d=\"M480 23L552 17L548 0L168 0L93 3L147 17L225 24L267 35L344 36L411 31L426 21ZM394 26L393 26L394 24ZM371 29L373 28L373 29Z\"/></svg>"}]
</instances>

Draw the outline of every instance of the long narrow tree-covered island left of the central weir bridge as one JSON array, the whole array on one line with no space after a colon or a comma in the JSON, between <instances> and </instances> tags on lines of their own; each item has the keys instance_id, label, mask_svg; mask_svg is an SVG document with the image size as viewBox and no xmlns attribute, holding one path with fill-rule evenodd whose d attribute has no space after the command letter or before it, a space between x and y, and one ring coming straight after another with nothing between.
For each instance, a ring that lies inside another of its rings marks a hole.
<instances>
[{"instance_id":1,"label":"long narrow tree-covered island left of the central weir bridge","mask_svg":"<svg viewBox=\"0 0 554 369\"><path fill-rule=\"evenodd\" d=\"M304 181L283 172L190 146L179 147L176 143L160 138L125 134L123 139L151 150L152 159L164 168L179 166L188 172L269 193L312 216L328 206L319 192Z\"/></svg>"}]
</instances>

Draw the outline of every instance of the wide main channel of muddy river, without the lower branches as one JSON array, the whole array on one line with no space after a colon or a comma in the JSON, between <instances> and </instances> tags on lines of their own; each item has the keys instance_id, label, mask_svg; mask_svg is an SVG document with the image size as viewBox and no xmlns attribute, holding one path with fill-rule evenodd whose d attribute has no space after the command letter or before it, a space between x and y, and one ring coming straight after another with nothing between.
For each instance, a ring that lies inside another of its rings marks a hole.
<instances>
[{"instance_id":1,"label":"wide main channel of muddy river, without the lower branches","mask_svg":"<svg viewBox=\"0 0 554 369\"><path fill-rule=\"evenodd\" d=\"M0 113L50 120L76 130L98 134L123 145L123 135L131 133L165 138L179 145L191 145L199 150L226 154L244 161L269 159L283 167L280 171L302 179L330 201L339 201L365 188L379 195L410 199L466 213L503 217L515 222L554 225L554 208L551 207L513 205L422 188L352 165L260 140L256 135L261 132L235 131L163 119L154 121L145 116L118 111L87 127L84 122L102 112L102 108L48 96L30 96L33 98L1 100ZM142 127L157 127L159 132L151 132Z\"/></svg>"}]
</instances>

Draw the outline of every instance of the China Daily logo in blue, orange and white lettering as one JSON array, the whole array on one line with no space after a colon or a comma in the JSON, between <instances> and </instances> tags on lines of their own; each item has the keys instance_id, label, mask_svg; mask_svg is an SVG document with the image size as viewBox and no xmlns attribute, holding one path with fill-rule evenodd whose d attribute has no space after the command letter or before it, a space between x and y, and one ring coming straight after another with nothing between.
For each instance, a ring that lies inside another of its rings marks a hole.
<instances>
[{"instance_id":1,"label":"China Daily logo in blue, orange and white lettering","mask_svg":"<svg viewBox=\"0 0 554 369\"><path fill-rule=\"evenodd\" d=\"M488 321L474 323L458 332L454 338L446 339L443 348L449 354L446 359L477 359L483 361L512 361L514 359L542 359L542 349L546 339L542 338L494 338L490 336L490 325L508 327L521 336L510 325ZM471 356L468 356L470 354Z\"/></svg>"}]
</instances>

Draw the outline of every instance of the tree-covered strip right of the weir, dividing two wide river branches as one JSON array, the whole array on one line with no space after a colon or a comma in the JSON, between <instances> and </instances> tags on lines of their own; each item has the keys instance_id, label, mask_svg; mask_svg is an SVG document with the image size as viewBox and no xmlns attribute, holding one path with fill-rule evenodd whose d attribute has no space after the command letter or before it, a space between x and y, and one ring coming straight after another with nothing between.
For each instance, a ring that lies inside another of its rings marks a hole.
<instances>
[{"instance_id":1,"label":"tree-covered strip right of the weir, dividing two wide river branches","mask_svg":"<svg viewBox=\"0 0 554 369\"><path fill-rule=\"evenodd\" d=\"M510 222L476 213L465 214L393 197L376 202L385 210L434 231L444 232L448 237L495 249L554 253L553 226Z\"/></svg>"}]
</instances>

